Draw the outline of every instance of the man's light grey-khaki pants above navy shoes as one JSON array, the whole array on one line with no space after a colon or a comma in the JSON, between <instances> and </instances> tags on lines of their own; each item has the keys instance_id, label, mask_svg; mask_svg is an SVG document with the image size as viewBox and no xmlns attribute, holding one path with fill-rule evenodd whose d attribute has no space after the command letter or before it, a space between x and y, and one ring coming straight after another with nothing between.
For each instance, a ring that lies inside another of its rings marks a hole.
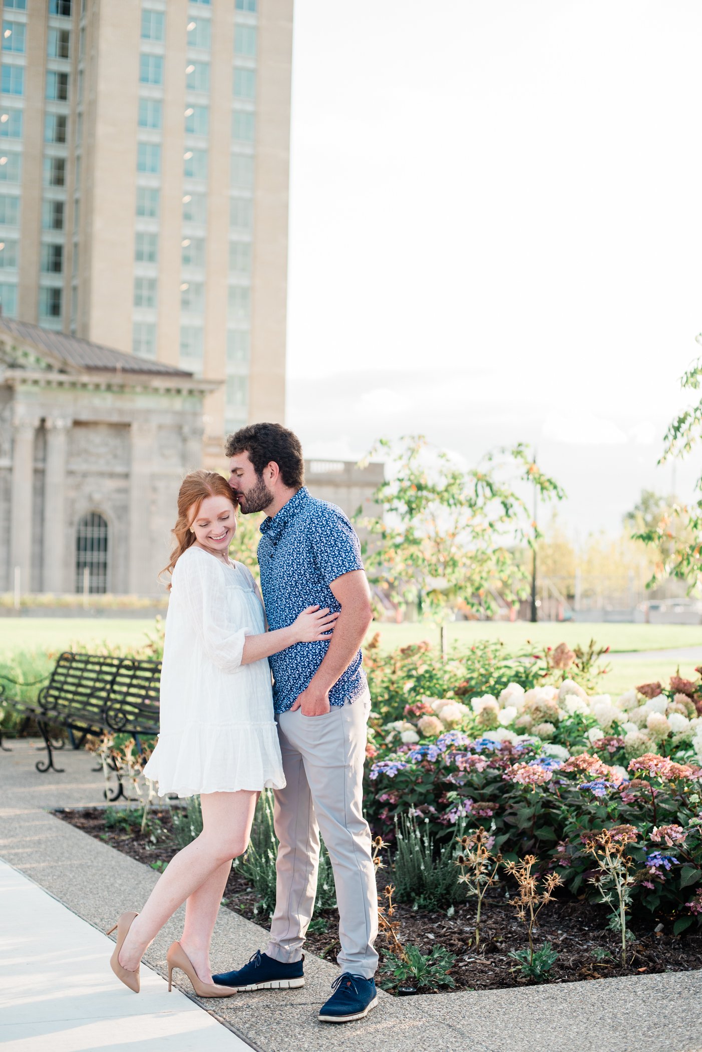
<instances>
[{"instance_id":1,"label":"man's light grey-khaki pants above navy shoes","mask_svg":"<svg viewBox=\"0 0 702 1052\"><path fill-rule=\"evenodd\" d=\"M300 709L277 716L287 785L275 792L280 841L275 913L266 953L300 960L312 917L319 832L334 870L338 904L337 960L343 972L371 978L378 955L377 893L371 833L363 815L363 773L370 696L332 706L323 716Z\"/></svg>"}]
</instances>

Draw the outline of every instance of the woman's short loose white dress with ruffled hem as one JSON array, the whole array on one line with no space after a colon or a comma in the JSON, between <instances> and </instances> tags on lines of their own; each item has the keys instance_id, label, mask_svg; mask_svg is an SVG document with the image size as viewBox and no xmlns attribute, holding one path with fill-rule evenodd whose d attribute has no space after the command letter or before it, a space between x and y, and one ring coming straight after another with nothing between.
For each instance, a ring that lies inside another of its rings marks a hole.
<instances>
[{"instance_id":1,"label":"woman's short loose white dress with ruffled hem","mask_svg":"<svg viewBox=\"0 0 702 1052\"><path fill-rule=\"evenodd\" d=\"M161 672L161 729L144 775L159 795L285 786L267 659L242 665L265 632L253 578L194 545L173 567Z\"/></svg>"}]
</instances>

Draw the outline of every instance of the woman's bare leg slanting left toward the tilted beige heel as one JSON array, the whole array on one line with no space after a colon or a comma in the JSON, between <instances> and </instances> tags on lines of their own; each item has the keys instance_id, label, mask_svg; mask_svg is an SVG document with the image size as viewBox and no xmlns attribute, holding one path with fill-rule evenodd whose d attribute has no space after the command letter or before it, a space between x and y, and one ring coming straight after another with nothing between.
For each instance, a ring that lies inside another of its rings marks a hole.
<instances>
[{"instance_id":1,"label":"woman's bare leg slanting left toward the tilted beige heel","mask_svg":"<svg viewBox=\"0 0 702 1052\"><path fill-rule=\"evenodd\" d=\"M133 971L146 947L183 903L218 871L224 873L225 863L243 854L249 842L256 792L213 792L200 797L203 831L191 844L179 851L133 920L120 952L120 964ZM220 885L221 876L218 881ZM210 888L207 923L213 925L212 901L216 887ZM222 898L222 888L218 907ZM214 914L216 915L216 914ZM211 929L210 929L211 935ZM194 936L193 936L194 937ZM195 940L202 942L198 935ZM207 938L209 946L209 937ZM185 949L185 948L184 948ZM187 950L186 950L187 953ZM194 962L193 962L194 965Z\"/></svg>"}]
</instances>

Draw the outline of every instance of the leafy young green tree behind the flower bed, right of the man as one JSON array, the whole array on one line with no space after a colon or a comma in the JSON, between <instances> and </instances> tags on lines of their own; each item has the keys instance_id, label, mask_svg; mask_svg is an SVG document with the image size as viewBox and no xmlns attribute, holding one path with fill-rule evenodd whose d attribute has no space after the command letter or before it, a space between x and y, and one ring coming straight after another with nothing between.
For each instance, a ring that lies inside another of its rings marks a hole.
<instances>
[{"instance_id":1,"label":"leafy young green tree behind the flower bed, right of the man","mask_svg":"<svg viewBox=\"0 0 702 1052\"><path fill-rule=\"evenodd\" d=\"M496 594L514 603L528 593L519 549L540 537L528 500L534 488L538 499L564 495L528 446L489 453L468 470L424 436L396 445L381 440L369 458L379 450L390 453L388 478L373 497L381 513L363 522L373 583L437 620L459 603L494 613Z\"/></svg>"}]
</instances>

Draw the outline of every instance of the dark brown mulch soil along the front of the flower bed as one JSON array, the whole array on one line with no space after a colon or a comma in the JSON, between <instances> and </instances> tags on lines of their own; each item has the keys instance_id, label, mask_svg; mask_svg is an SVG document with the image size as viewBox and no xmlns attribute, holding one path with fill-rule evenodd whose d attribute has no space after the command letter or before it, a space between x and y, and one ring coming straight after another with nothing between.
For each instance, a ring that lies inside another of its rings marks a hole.
<instances>
[{"instance_id":1,"label":"dark brown mulch soil along the front of the flower bed","mask_svg":"<svg viewBox=\"0 0 702 1052\"><path fill-rule=\"evenodd\" d=\"M61 810L56 814L90 836L154 868L168 863L178 850L169 832L168 810L153 812L162 827L157 843L149 836L142 836L139 830L106 828L105 810L102 808ZM377 877L378 894L383 901L384 889L391 882L391 872L379 870ZM268 927L269 917L256 914L257 896L236 869L231 871L224 897L228 909L262 928ZM509 898L486 896L483 899L480 947L477 951L472 937L475 905L471 902L456 906L451 916L447 911L413 909L411 904L398 903L395 904L392 919L399 923L397 935L402 944L414 944L424 953L429 953L432 947L438 945L455 954L455 965L451 969L455 990L499 990L529 985L529 980L520 977L516 962L509 955L511 951L528 946L525 928L517 918ZM549 983L702 968L702 929L695 928L680 936L672 934L672 925L664 925L663 930L656 931L658 923L649 913L632 919L631 929L636 937L628 945L627 965L622 968L618 956L619 935L607 929L607 919L605 908L572 897L556 899L544 906L534 938L536 945L549 940L558 953L556 964L549 973ZM306 949L333 963L339 949L337 924L335 910L325 910L315 915ZM263 935L261 942L263 947ZM383 933L378 936L376 949L381 959L384 950L390 949ZM412 986L411 983L404 985Z\"/></svg>"}]
</instances>

